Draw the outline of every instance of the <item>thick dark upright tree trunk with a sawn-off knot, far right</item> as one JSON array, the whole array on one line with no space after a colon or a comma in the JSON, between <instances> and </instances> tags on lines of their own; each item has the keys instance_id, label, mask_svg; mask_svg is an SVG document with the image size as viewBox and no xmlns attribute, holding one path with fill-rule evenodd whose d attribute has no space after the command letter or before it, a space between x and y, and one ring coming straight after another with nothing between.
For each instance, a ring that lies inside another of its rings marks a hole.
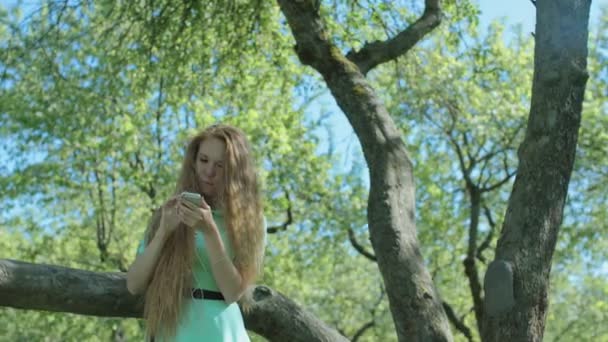
<instances>
[{"instance_id":1,"label":"thick dark upright tree trunk with a sawn-off knot, far right","mask_svg":"<svg viewBox=\"0 0 608 342\"><path fill-rule=\"evenodd\" d=\"M588 78L590 4L536 1L532 103L496 257L484 280L484 341L543 337L551 259Z\"/></svg>"}]
</instances>

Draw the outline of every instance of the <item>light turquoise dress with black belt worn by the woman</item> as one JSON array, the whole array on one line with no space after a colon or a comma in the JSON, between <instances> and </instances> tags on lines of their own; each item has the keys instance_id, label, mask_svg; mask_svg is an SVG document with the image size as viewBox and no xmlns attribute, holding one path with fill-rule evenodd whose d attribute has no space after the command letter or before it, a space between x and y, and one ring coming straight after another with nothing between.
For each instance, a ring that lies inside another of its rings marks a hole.
<instances>
[{"instance_id":1,"label":"light turquoise dress with black belt worn by the woman","mask_svg":"<svg viewBox=\"0 0 608 342\"><path fill-rule=\"evenodd\" d=\"M226 252L232 258L234 253L224 219L219 212L213 212L213 218L219 230ZM199 231L195 233L196 253L193 265L194 287L220 291L213 273L211 264L205 250L205 238ZM137 253L145 249L145 241L140 242ZM186 301L182 320L177 327L176 342L247 342L249 336L243 323L243 315L236 303L230 305L223 300L192 299ZM159 339L155 339L155 342Z\"/></svg>"}]
</instances>

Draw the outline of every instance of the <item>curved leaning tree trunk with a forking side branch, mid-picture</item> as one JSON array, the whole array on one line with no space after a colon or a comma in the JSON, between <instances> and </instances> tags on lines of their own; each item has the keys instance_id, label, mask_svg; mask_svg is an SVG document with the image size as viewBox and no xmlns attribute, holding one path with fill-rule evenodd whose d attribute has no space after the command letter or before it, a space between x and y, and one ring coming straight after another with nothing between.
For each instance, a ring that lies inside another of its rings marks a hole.
<instances>
[{"instance_id":1,"label":"curved leaning tree trunk with a forking side branch, mid-picture","mask_svg":"<svg viewBox=\"0 0 608 342\"><path fill-rule=\"evenodd\" d=\"M439 1L427 0L419 25L396 40L376 42L365 53L351 53L348 58L329 40L318 1L278 2L297 42L300 61L323 76L361 142L370 170L370 237L399 340L451 341L442 300L424 266L416 236L412 162L401 133L364 77L373 66L407 52L439 24ZM386 45L399 48L399 54L369 51ZM365 61L365 56L370 60Z\"/></svg>"}]
</instances>

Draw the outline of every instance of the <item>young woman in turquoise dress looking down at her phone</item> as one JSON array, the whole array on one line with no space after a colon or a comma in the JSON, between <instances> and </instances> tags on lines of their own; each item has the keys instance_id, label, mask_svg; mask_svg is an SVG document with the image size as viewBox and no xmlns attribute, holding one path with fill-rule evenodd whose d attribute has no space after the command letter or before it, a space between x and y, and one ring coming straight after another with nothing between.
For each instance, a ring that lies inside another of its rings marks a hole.
<instances>
[{"instance_id":1,"label":"young woman in turquoise dress looking down at her phone","mask_svg":"<svg viewBox=\"0 0 608 342\"><path fill-rule=\"evenodd\" d=\"M193 204L183 192L202 195ZM236 301L262 267L265 224L245 135L213 125L188 145L175 195L153 215L127 288L154 341L249 341Z\"/></svg>"}]
</instances>

